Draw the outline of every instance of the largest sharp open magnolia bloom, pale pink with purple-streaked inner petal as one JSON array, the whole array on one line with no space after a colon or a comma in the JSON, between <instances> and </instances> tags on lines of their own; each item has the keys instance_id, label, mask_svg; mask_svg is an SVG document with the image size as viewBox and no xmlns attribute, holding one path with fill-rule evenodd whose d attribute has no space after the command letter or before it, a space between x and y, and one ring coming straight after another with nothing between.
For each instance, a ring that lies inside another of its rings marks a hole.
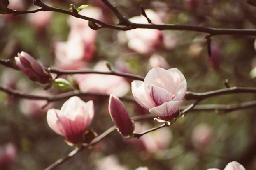
<instances>
[{"instance_id":1,"label":"largest sharp open magnolia bloom, pale pink with purple-streaked inner petal","mask_svg":"<svg viewBox=\"0 0 256 170\"><path fill-rule=\"evenodd\" d=\"M133 96L138 104L165 121L175 118L186 90L186 79L177 68L152 68L144 82L132 82Z\"/></svg>"}]
</instances>

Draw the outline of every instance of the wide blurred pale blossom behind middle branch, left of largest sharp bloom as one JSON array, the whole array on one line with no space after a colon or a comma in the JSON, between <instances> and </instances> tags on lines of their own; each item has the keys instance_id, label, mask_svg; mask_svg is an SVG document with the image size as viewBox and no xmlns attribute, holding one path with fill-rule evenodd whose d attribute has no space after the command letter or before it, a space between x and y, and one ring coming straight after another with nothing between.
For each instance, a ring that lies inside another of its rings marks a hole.
<instances>
[{"instance_id":1,"label":"wide blurred pale blossom behind middle branch, left of largest sharp bloom","mask_svg":"<svg viewBox=\"0 0 256 170\"><path fill-rule=\"evenodd\" d=\"M98 62L93 70L109 71L105 61ZM130 91L130 85L126 79L115 75L85 74L74 75L81 91L102 94L114 94L117 97L123 97Z\"/></svg>"}]
</instances>

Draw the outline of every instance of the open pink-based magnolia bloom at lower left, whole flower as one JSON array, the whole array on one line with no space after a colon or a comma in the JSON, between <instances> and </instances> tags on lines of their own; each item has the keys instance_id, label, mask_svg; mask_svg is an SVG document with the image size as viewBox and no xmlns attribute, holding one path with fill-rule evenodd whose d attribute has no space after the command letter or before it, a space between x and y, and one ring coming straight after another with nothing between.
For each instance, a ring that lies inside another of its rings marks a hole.
<instances>
[{"instance_id":1,"label":"open pink-based magnolia bloom at lower left, whole flower","mask_svg":"<svg viewBox=\"0 0 256 170\"><path fill-rule=\"evenodd\" d=\"M49 127L66 141L77 144L83 141L83 134L94 116L93 101L87 103L74 96L67 100L61 110L49 109L47 122Z\"/></svg>"}]
</instances>

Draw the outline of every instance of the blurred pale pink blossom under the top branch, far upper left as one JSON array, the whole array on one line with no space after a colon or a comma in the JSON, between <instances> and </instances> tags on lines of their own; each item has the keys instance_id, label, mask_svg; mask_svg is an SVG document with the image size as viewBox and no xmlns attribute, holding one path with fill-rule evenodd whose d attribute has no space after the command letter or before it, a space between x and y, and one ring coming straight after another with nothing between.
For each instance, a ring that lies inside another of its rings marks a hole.
<instances>
[{"instance_id":1,"label":"blurred pale pink blossom under the top branch, far upper left","mask_svg":"<svg viewBox=\"0 0 256 170\"><path fill-rule=\"evenodd\" d=\"M51 5L49 5L51 6ZM29 10L38 9L37 6L30 7ZM47 27L52 19L52 12L51 11L40 11L32 14L28 14L28 21L37 31L40 31Z\"/></svg>"}]
</instances>

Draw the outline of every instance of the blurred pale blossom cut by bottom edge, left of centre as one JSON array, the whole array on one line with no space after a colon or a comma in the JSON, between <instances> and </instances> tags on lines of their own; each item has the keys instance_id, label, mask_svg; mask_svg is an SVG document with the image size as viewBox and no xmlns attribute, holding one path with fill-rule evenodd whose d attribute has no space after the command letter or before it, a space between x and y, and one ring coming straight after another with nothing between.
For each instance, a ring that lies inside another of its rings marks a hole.
<instances>
[{"instance_id":1,"label":"blurred pale blossom cut by bottom edge, left of centre","mask_svg":"<svg viewBox=\"0 0 256 170\"><path fill-rule=\"evenodd\" d=\"M128 168L120 165L116 156L110 155L96 162L96 170L128 170Z\"/></svg>"}]
</instances>

